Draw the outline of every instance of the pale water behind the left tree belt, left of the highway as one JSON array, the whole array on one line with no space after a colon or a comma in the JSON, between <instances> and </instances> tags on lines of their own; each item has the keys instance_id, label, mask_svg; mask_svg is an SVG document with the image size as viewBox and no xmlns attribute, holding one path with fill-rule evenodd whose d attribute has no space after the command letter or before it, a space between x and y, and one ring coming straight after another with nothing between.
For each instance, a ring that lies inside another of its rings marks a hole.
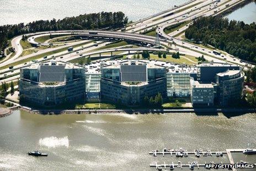
<instances>
[{"instance_id":1,"label":"pale water behind the left tree belt, left of the highway","mask_svg":"<svg viewBox=\"0 0 256 171\"><path fill-rule=\"evenodd\" d=\"M188 0L1 0L0 25L102 11L122 11L135 21L185 2Z\"/></svg>"}]
</instances>

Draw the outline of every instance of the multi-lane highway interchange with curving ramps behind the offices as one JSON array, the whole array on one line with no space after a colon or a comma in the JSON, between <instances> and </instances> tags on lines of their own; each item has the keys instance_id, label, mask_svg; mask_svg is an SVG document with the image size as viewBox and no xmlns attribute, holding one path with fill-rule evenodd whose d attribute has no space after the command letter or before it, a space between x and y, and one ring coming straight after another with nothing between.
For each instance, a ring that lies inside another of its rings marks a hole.
<instances>
[{"instance_id":1,"label":"multi-lane highway interchange with curving ramps behind the offices","mask_svg":"<svg viewBox=\"0 0 256 171\"><path fill-rule=\"evenodd\" d=\"M36 46L49 46L49 42L36 42L37 37L47 36L47 35L76 35L81 37L87 37L88 40L81 40L77 42L66 43L66 45L58 46L54 48L42 49L41 51L33 54L29 54L27 56L20 57L23 52L23 48L20 45L20 41L22 40L22 35L14 37L12 39L12 47L15 49L15 55L0 61L0 82L10 82L15 81L19 78L19 68L24 67L26 65L31 64L32 62L22 63L22 64L13 64L22 62L24 59L30 59L31 57L38 56L39 54L44 54L46 52L52 52L61 48L68 48L70 46L78 46L74 48L73 52L58 52L56 54L51 55L51 57L39 58L38 62L45 60L62 60L69 61L76 58L87 57L94 54L102 54L102 53L112 53L115 51L118 52L128 52L130 54L136 53L137 51L143 51L145 49L149 51L170 51L177 52L183 54L188 54L190 56L199 57L204 54L204 57L207 60L214 60L215 62L230 62L238 65L242 65L246 67L247 63L241 62L239 59L232 57L230 54L222 53L221 55L217 55L212 53L212 49L202 48L201 46L194 45L192 43L180 40L178 37L174 37L175 35L182 34L184 30L193 22L193 19L196 19L200 16L210 16L216 15L224 12L225 10L233 7L238 3L243 2L244 0L194 0L188 3L185 3L180 6L175 6L172 9L166 10L165 12L161 12L159 14L155 14L146 19L142 19L135 23L131 23L126 26L125 31L92 31L92 30L65 30L65 31L47 31L47 32L36 32L33 34L27 34L28 42L32 45ZM187 21L189 24L184 25L179 30L175 30L170 34L166 34L164 29L168 26L175 25L177 23L183 23ZM116 40L128 40L134 42L143 42L145 44L154 45L156 37L142 35L144 31L156 30L157 34L160 37L160 43L162 49L156 49L154 47L141 47L141 48L127 48L127 47L115 47L111 49L102 49L97 51L98 48L104 48L104 46L108 45L110 41ZM91 41L94 40L95 42ZM84 45L83 45L84 43ZM97 44L97 46L95 46ZM54 45L54 43L52 43ZM60 45L60 44L58 44ZM81 46L80 46L81 45ZM170 50L166 49L169 47ZM96 51L95 51L96 49ZM221 51L218 51L221 52ZM102 56L104 58L104 56ZM9 69L6 67L7 65L12 65L13 69ZM251 65L253 67L253 65Z\"/></svg>"}]
</instances>

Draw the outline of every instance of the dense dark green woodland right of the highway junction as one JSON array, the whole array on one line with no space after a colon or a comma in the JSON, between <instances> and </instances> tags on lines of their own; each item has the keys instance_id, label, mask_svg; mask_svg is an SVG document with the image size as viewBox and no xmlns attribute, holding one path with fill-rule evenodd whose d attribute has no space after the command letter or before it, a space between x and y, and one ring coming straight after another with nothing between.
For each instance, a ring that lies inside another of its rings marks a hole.
<instances>
[{"instance_id":1,"label":"dense dark green woodland right of the highway junction","mask_svg":"<svg viewBox=\"0 0 256 171\"><path fill-rule=\"evenodd\" d=\"M201 17L185 31L186 38L226 51L238 58L256 62L256 24Z\"/></svg>"}]
</instances>

